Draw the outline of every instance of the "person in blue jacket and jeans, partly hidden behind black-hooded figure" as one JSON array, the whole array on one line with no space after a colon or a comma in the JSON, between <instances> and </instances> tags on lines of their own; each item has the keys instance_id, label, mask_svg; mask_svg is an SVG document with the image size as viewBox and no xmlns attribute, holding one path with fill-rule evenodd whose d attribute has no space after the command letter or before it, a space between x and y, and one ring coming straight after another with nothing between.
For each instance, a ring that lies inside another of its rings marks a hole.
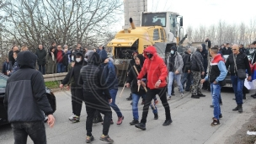
<instances>
[{"instance_id":1,"label":"person in blue jacket and jeans, partly hidden behind black-hooded figure","mask_svg":"<svg viewBox=\"0 0 256 144\"><path fill-rule=\"evenodd\" d=\"M106 88L109 88L109 93L112 99L112 103L110 104L110 106L112 109L115 110L115 113L118 117L116 124L120 125L124 120L124 115L122 115L119 107L115 104L116 94L118 91L118 79L115 74L115 66L112 61L109 61L107 51L105 51L104 49L99 51L99 57L101 61L99 67L103 69L103 74L105 77L105 81L101 81L101 83L104 83L104 86Z\"/></svg>"}]
</instances>

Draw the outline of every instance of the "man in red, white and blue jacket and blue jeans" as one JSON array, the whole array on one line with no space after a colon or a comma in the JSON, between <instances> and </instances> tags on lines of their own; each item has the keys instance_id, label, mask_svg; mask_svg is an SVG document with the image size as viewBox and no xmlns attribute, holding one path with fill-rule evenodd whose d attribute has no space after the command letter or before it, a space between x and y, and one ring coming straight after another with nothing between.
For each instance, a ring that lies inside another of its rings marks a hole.
<instances>
[{"instance_id":1,"label":"man in red, white and blue jacket and blue jeans","mask_svg":"<svg viewBox=\"0 0 256 144\"><path fill-rule=\"evenodd\" d=\"M218 54L217 47L211 48L210 55L212 57L211 67L205 79L201 80L201 83L205 83L205 81L209 81L211 83L211 97L214 116L211 125L220 125L220 118L222 115L219 100L221 96L221 86L227 76L227 69L221 54Z\"/></svg>"}]
</instances>

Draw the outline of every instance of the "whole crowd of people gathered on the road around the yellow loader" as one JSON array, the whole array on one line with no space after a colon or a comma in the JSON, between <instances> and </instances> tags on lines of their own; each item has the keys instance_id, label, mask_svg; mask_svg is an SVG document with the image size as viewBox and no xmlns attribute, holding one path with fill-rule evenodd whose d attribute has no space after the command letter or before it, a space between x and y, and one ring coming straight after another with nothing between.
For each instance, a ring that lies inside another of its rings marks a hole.
<instances>
[{"instance_id":1,"label":"whole crowd of people gathered on the road around the yellow loader","mask_svg":"<svg viewBox=\"0 0 256 144\"><path fill-rule=\"evenodd\" d=\"M222 104L221 87L225 86L225 77L227 77L228 73L231 75L232 88L237 104L232 110L239 113L243 112L243 99L245 99L245 94L243 93L244 81L246 78L248 81L251 81L253 77L256 78L254 73L251 72L251 66L254 66L256 62L256 51L253 52L253 58L249 61L243 45L234 44L230 47L230 44L227 43L221 46L211 46L211 41L208 38L205 42L208 45L197 45L193 53L191 51L194 50L191 50L191 47L187 47L184 55L180 55L177 51L177 46L173 45L165 61L157 55L157 50L154 46L148 46L143 51L143 54L139 54L137 51L133 52L133 59L130 61L125 82L125 86L131 88L131 109L133 115L133 120L130 122L131 125L135 125L136 128L145 131L149 107L152 108L154 120L158 119L157 98L161 100L165 110L166 118L163 125L170 125L173 122L168 100L175 95L174 81L179 86L181 98L184 98L184 93L191 93L192 99L205 97L205 94L201 92L201 86L203 89L211 91L211 107L214 109L211 125L219 125L222 117L220 107ZM256 48L256 41L253 41L251 46ZM10 94L15 95L16 93L11 93L10 87L15 87L11 82L16 82L18 78L19 81L17 83L23 83L19 79L20 77L17 77L17 75L20 75L20 72L31 72L33 77L28 77L30 81L34 82L38 78L37 80L43 82L41 80L42 76L38 76L38 72L31 70L35 69L34 60L36 60L41 74L45 74L45 72L67 72L67 76L61 81L59 87L63 88L66 85L67 89L71 89L72 115L68 120L73 123L80 122L83 102L85 104L87 113L86 142L90 143L94 140L92 134L93 123L101 122L103 134L99 139L113 143L114 140L109 137L109 126L114 124L111 108L115 110L117 115L117 125L121 125L124 120L124 115L121 113L118 105L115 104L119 82L113 60L108 55L108 52L104 50L103 46L99 46L99 49L93 49L93 51L88 51L88 49L83 51L79 44L75 50L68 50L67 45L63 45L63 48L64 50L62 50L61 45L56 45L54 42L48 52L44 50L42 45L39 45L38 50L33 54L24 47L21 50L22 52L19 53L19 47L13 46L13 50L10 51L8 57L9 64L4 66L8 69L5 74L10 76L6 88L8 94L4 100L5 105L13 105L13 100L9 98L11 97ZM224 55L228 55L227 59L224 58ZM30 59L26 60L25 56L30 57ZM45 70L46 63L47 68ZM50 65L48 65L49 63ZM24 92L24 94L29 96L36 95L36 99L42 103L39 103L38 106L32 103L31 107L36 107L37 109L30 109L32 110L31 113L33 113L33 110L38 112L41 109L45 115L50 116L48 123L52 127L54 125L54 117L52 116L52 109L49 108L49 104L44 101L44 90L41 89L38 92L39 89L34 88L39 86L34 87L34 84L32 84L32 88L29 87L29 85L26 85L24 89L31 89L33 93ZM252 97L256 98L256 93ZM138 113L138 101L140 98L143 99L142 103L144 104L141 120L139 120ZM13 109L9 110L8 106L7 109L8 115L13 115L10 114L13 112ZM16 111L14 110L14 112ZM104 115L104 119L102 115ZM18 117L14 116L18 121L24 122L22 121L23 119ZM28 122L28 119L25 117L25 122ZM13 129L24 129L19 127L20 124L16 125L15 122L17 120L10 121L12 122ZM38 114L37 120L41 120L40 114ZM24 123L22 124L25 127ZM24 139L24 137L19 137L15 131L13 133L15 141ZM44 136L44 140L40 141L46 141L45 131L38 132L37 134ZM38 140L35 138L33 141Z\"/></svg>"}]
</instances>

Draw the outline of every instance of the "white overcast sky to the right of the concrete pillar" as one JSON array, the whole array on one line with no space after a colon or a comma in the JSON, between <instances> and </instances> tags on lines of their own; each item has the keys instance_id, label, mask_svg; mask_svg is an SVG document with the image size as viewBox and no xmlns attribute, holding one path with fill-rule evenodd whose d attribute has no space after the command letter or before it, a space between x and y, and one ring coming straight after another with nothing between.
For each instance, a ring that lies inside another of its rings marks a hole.
<instances>
[{"instance_id":1,"label":"white overcast sky to the right of the concrete pillar","mask_svg":"<svg viewBox=\"0 0 256 144\"><path fill-rule=\"evenodd\" d=\"M184 28L207 27L220 20L227 24L249 24L256 19L256 0L147 0L147 11L179 13L184 17Z\"/></svg>"}]
</instances>

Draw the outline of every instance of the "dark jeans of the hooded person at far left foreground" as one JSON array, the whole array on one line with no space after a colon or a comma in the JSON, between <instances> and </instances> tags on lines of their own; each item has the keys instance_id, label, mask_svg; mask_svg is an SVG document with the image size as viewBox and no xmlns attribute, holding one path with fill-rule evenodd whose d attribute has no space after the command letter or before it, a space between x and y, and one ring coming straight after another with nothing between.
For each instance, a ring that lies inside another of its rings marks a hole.
<instances>
[{"instance_id":1,"label":"dark jeans of the hooded person at far left foreground","mask_svg":"<svg viewBox=\"0 0 256 144\"><path fill-rule=\"evenodd\" d=\"M46 144L44 121L13 122L14 144L26 144L28 136L35 144Z\"/></svg>"}]
</instances>

